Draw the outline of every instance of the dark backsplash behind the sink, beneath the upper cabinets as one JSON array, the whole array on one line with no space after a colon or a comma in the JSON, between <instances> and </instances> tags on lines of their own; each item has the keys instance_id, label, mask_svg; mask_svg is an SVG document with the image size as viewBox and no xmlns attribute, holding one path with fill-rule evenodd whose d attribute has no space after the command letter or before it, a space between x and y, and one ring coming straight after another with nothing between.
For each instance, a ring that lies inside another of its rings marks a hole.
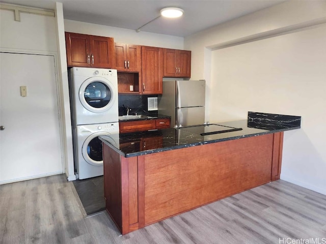
<instances>
[{"instance_id":1,"label":"dark backsplash behind the sink, beneath the upper cabinets","mask_svg":"<svg viewBox=\"0 0 326 244\"><path fill-rule=\"evenodd\" d=\"M157 98L157 95L128 95L119 94L119 116L127 114L127 106L131 108L129 114L157 115L157 110L148 111L147 98Z\"/></svg>"}]
</instances>

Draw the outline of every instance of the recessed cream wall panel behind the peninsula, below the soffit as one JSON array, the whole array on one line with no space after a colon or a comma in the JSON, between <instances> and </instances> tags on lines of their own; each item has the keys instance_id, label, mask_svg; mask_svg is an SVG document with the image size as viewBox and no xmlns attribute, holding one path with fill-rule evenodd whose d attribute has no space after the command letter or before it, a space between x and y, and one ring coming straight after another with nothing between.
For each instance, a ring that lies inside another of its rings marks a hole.
<instances>
[{"instance_id":1,"label":"recessed cream wall panel behind the peninsula, below the soffit","mask_svg":"<svg viewBox=\"0 0 326 244\"><path fill-rule=\"evenodd\" d=\"M213 51L211 68L210 120L302 116L285 132L281 178L326 194L326 24Z\"/></svg>"}]
</instances>

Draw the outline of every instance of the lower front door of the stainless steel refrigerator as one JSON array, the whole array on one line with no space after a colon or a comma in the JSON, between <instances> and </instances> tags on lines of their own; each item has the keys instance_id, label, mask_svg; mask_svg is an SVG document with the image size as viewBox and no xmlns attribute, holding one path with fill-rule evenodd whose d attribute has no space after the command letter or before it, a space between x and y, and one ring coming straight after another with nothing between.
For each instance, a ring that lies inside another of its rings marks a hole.
<instances>
[{"instance_id":1,"label":"lower front door of the stainless steel refrigerator","mask_svg":"<svg viewBox=\"0 0 326 244\"><path fill-rule=\"evenodd\" d=\"M191 107L177 109L177 125L193 126L205 122L205 107Z\"/></svg>"}]
</instances>

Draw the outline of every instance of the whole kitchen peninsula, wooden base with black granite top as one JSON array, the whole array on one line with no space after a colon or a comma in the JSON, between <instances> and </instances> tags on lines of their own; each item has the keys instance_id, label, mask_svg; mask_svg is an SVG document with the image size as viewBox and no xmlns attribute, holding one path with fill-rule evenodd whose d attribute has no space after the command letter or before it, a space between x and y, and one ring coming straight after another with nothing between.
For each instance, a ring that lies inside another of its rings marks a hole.
<instances>
[{"instance_id":1,"label":"whole kitchen peninsula, wooden base with black granite top","mask_svg":"<svg viewBox=\"0 0 326 244\"><path fill-rule=\"evenodd\" d=\"M283 132L300 116L249 112L205 127L101 136L106 210L122 234L280 178ZM220 131L221 132L221 131Z\"/></svg>"}]
</instances>

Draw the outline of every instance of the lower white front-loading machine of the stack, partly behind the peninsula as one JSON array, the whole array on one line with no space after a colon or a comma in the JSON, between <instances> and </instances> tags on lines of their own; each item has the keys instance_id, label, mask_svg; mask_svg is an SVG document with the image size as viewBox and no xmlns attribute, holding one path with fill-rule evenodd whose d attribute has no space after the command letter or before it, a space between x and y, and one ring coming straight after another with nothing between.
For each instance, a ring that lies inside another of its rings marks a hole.
<instances>
[{"instance_id":1,"label":"lower white front-loading machine of the stack, partly behind the peninsula","mask_svg":"<svg viewBox=\"0 0 326 244\"><path fill-rule=\"evenodd\" d=\"M113 145L119 146L119 123L82 125L74 128L75 167L78 178L103 175L102 141L105 135Z\"/></svg>"}]
</instances>

